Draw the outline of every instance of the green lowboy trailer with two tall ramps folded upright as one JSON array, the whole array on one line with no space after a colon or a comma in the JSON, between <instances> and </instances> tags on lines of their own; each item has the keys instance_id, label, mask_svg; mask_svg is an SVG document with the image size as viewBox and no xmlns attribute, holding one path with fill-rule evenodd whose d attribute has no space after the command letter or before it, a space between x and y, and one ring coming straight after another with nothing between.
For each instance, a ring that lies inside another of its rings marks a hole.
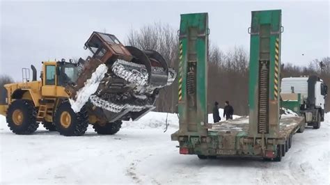
<instances>
[{"instance_id":1,"label":"green lowboy trailer with two tall ramps folded upright","mask_svg":"<svg viewBox=\"0 0 330 185\"><path fill-rule=\"evenodd\" d=\"M207 123L207 13L181 15L179 34L179 125L171 135L180 154L260 156L281 161L304 119L280 116L281 10L253 11L250 47L249 117ZM219 79L221 80L221 79ZM244 102L242 102L244 103Z\"/></svg>"}]
</instances>

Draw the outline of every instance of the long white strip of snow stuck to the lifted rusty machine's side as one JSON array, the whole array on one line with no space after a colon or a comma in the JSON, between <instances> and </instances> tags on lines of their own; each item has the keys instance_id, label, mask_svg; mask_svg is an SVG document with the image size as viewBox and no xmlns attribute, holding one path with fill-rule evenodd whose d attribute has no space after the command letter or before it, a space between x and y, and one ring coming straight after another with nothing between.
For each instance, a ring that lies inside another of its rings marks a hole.
<instances>
[{"instance_id":1,"label":"long white strip of snow stuck to the lifted rusty machine's side","mask_svg":"<svg viewBox=\"0 0 330 185\"><path fill-rule=\"evenodd\" d=\"M77 99L74 101L74 99L69 99L71 107L75 113L79 112L80 109L86 104L89 97L93 95L97 87L100 84L100 81L104 78L104 74L108 71L108 67L105 64L99 65L95 72L93 72L91 79L88 79L85 82L84 88L81 88L77 92Z\"/></svg>"}]
</instances>

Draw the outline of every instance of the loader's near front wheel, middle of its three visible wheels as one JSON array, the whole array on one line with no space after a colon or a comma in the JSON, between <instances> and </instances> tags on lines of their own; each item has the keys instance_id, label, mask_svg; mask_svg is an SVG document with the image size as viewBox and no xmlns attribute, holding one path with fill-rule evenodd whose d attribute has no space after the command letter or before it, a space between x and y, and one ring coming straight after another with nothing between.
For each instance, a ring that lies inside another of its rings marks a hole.
<instances>
[{"instance_id":1,"label":"loader's near front wheel, middle of its three visible wheels","mask_svg":"<svg viewBox=\"0 0 330 185\"><path fill-rule=\"evenodd\" d=\"M64 101L56 108L54 123L63 136L81 136L88 127L88 113L84 106L79 113L74 113L70 102Z\"/></svg>"}]
</instances>

